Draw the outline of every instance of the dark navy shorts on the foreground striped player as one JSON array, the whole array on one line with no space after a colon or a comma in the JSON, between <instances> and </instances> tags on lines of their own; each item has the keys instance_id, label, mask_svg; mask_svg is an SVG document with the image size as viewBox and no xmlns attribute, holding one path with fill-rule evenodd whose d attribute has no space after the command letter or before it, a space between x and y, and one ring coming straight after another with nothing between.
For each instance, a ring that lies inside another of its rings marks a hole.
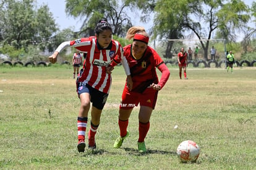
<instances>
[{"instance_id":1,"label":"dark navy shorts on the foreground striped player","mask_svg":"<svg viewBox=\"0 0 256 170\"><path fill-rule=\"evenodd\" d=\"M89 93L92 105L100 110L104 108L106 100L108 99L108 93L96 90L95 88L90 87L87 83L77 82L77 94L80 95L82 93Z\"/></svg>"}]
</instances>

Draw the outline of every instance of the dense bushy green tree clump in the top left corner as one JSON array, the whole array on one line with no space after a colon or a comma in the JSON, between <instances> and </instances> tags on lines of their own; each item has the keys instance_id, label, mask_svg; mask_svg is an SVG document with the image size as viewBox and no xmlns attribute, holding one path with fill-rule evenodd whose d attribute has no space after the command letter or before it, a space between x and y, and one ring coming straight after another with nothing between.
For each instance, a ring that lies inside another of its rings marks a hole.
<instances>
[{"instance_id":1,"label":"dense bushy green tree clump in the top left corner","mask_svg":"<svg viewBox=\"0 0 256 170\"><path fill-rule=\"evenodd\" d=\"M58 30L47 6L35 9L34 0L0 0L0 40L15 49L27 49L28 45L39 45L41 49L49 43Z\"/></svg>"}]
</instances>

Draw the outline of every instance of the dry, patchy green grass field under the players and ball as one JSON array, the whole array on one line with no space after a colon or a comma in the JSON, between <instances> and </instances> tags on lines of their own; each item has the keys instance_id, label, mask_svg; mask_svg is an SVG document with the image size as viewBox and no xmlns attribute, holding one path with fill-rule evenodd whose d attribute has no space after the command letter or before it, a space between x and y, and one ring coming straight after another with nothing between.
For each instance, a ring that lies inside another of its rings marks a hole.
<instances>
[{"instance_id":1,"label":"dry, patchy green grass field under the players and ball","mask_svg":"<svg viewBox=\"0 0 256 170\"><path fill-rule=\"evenodd\" d=\"M122 67L113 70L97 149L78 153L72 67L0 66L0 169L255 169L256 69L188 69L189 80L179 80L176 67L170 72L151 116L147 153L137 152L138 108L129 119L130 137L113 148ZM179 163L183 140L200 146L197 163Z\"/></svg>"}]
</instances>

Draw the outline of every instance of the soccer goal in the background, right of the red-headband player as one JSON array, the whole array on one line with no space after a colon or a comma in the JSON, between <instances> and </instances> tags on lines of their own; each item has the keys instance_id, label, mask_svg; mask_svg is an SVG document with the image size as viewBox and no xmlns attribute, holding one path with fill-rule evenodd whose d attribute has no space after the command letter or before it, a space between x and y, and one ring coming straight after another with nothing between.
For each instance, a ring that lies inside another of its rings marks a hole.
<instances>
[{"instance_id":1,"label":"soccer goal in the background, right of the red-headband player","mask_svg":"<svg viewBox=\"0 0 256 170\"><path fill-rule=\"evenodd\" d=\"M177 61L177 54L184 48L188 53L188 61L226 62L226 41L224 39L211 40L153 40L150 42L164 61ZM211 56L211 48L215 50L215 56Z\"/></svg>"}]
</instances>

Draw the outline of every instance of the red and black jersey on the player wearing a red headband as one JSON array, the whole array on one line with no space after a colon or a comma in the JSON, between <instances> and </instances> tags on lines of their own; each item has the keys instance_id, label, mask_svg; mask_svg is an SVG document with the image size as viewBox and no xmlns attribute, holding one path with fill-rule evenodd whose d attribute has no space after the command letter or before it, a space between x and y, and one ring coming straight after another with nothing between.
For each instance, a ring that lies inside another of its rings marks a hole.
<instances>
[{"instance_id":1,"label":"red and black jersey on the player wearing a red headband","mask_svg":"<svg viewBox=\"0 0 256 170\"><path fill-rule=\"evenodd\" d=\"M132 45L124 47L124 56L130 67L130 75L132 76L132 91L142 93L151 83L158 83L156 67L163 63L161 57L156 51L147 46L147 49L140 59L132 56Z\"/></svg>"}]
</instances>

